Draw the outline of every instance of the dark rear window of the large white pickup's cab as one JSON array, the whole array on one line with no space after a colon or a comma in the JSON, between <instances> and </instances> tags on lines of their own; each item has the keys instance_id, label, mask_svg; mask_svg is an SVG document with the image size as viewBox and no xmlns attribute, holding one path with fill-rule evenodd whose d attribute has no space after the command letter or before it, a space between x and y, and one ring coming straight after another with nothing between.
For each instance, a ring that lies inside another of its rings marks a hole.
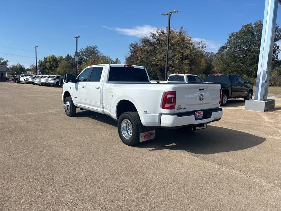
<instances>
[{"instance_id":1,"label":"dark rear window of the large white pickup's cab","mask_svg":"<svg viewBox=\"0 0 281 211\"><path fill-rule=\"evenodd\" d=\"M148 82L145 69L133 67L110 67L108 81Z\"/></svg>"}]
</instances>

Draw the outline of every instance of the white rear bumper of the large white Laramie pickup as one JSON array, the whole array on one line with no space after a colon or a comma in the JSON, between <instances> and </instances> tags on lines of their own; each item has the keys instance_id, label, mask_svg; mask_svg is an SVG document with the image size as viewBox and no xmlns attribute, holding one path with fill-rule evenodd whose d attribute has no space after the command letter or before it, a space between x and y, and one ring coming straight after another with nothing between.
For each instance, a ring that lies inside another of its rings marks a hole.
<instances>
[{"instance_id":1,"label":"white rear bumper of the large white Laramie pickup","mask_svg":"<svg viewBox=\"0 0 281 211\"><path fill-rule=\"evenodd\" d=\"M209 112L211 112L210 118L204 118L204 119L195 119L194 113L189 112L186 116L183 116L184 114L178 114L178 115L166 115L163 114L161 116L161 127L179 127L179 126L185 126L185 125L197 125L200 123L210 123L213 121L217 121L221 119L223 109L212 109Z\"/></svg>"}]
</instances>

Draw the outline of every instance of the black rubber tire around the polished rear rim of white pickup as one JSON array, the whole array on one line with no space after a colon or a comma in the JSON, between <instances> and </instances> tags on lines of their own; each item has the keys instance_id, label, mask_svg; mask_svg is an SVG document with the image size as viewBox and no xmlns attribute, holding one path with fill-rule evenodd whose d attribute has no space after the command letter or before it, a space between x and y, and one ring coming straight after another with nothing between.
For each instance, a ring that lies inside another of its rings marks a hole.
<instances>
[{"instance_id":1,"label":"black rubber tire around the polished rear rim of white pickup","mask_svg":"<svg viewBox=\"0 0 281 211\"><path fill-rule=\"evenodd\" d=\"M132 126L132 133L130 133L131 137L125 138L122 133L122 122L123 120L129 120ZM126 145L133 146L139 143L139 114L137 112L125 112L120 115L118 118L118 134L122 142Z\"/></svg>"}]
</instances>

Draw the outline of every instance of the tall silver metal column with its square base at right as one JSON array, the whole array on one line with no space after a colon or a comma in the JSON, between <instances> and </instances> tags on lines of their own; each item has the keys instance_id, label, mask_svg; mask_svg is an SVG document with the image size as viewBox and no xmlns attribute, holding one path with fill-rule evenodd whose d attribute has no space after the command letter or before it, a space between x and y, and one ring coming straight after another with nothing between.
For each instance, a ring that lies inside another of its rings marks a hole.
<instances>
[{"instance_id":1,"label":"tall silver metal column with its square base at right","mask_svg":"<svg viewBox=\"0 0 281 211\"><path fill-rule=\"evenodd\" d=\"M281 0L266 0L265 2L255 99L246 100L246 110L268 111L275 107L275 100L267 99L267 95L278 3L281 4Z\"/></svg>"}]
</instances>

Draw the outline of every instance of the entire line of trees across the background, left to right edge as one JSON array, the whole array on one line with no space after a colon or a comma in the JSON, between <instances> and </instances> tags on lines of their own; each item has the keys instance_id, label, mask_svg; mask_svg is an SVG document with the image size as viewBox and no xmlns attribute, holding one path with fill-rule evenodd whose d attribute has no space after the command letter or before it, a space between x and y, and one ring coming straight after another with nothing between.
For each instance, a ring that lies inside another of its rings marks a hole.
<instances>
[{"instance_id":1,"label":"entire line of trees across the background, left to right edge","mask_svg":"<svg viewBox=\"0 0 281 211\"><path fill-rule=\"evenodd\" d=\"M154 80L163 80L166 60L166 29L156 29L148 37L129 45L129 53L125 59L126 64L145 66L149 77ZM241 29L228 36L224 46L217 53L206 52L204 41L195 41L181 27L170 31L170 50L168 62L168 75L173 73L197 74L205 79L212 73L233 73L243 76L245 80L255 85L259 50L262 36L262 21L242 25ZM277 41L281 39L281 29L276 26L275 42L272 55L272 70L270 85L281 85L281 60L278 58L280 48ZM102 54L96 45L86 46L78 51L79 70L93 64L120 64L120 60L113 60L110 56ZM6 63L0 58L0 63ZM76 63L74 56L65 57L49 55L39 60L38 66L42 74L75 74ZM17 74L33 70L35 65L25 69L22 64L9 67L11 73Z\"/></svg>"}]
</instances>

